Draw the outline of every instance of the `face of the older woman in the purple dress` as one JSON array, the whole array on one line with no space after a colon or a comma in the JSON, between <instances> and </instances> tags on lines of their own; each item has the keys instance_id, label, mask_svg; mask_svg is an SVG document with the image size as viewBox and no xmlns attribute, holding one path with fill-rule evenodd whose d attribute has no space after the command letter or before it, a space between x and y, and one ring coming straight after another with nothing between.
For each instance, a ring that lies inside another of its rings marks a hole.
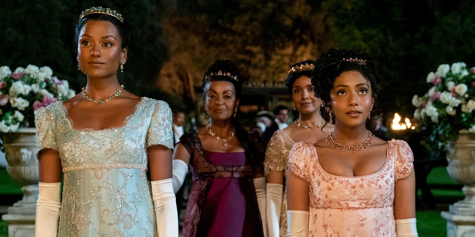
<instances>
[{"instance_id":1,"label":"face of the older woman in the purple dress","mask_svg":"<svg viewBox=\"0 0 475 237\"><path fill-rule=\"evenodd\" d=\"M205 107L209 117L217 120L226 120L234 114L239 103L236 99L236 90L233 83L211 81L205 85Z\"/></svg>"}]
</instances>

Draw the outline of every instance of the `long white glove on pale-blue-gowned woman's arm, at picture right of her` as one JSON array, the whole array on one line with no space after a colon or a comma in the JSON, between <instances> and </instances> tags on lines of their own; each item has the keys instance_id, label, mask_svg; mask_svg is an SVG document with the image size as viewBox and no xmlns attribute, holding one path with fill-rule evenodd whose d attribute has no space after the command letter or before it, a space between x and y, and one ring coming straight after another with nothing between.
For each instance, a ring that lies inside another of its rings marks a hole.
<instances>
[{"instance_id":1,"label":"long white glove on pale-blue-gowned woman's arm, at picture right of her","mask_svg":"<svg viewBox=\"0 0 475 237\"><path fill-rule=\"evenodd\" d=\"M178 237L178 212L172 179L150 182L158 237Z\"/></svg>"}]
</instances>

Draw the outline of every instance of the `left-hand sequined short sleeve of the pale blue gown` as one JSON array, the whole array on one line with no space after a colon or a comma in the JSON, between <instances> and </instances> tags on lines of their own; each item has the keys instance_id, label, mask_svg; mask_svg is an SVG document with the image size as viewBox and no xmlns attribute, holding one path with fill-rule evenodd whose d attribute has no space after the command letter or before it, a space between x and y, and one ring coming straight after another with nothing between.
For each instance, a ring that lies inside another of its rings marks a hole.
<instances>
[{"instance_id":1,"label":"left-hand sequined short sleeve of the pale blue gown","mask_svg":"<svg viewBox=\"0 0 475 237\"><path fill-rule=\"evenodd\" d=\"M46 107L41 107L35 114L37 153L45 148L58 150L55 135L55 117Z\"/></svg>"}]
</instances>

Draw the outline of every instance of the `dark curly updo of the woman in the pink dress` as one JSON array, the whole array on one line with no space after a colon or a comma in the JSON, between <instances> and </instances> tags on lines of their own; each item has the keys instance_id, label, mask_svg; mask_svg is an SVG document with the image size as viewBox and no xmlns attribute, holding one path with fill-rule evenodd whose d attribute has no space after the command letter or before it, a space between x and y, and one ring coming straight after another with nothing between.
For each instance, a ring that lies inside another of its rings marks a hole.
<instances>
[{"instance_id":1,"label":"dark curly updo of the woman in the pink dress","mask_svg":"<svg viewBox=\"0 0 475 237\"><path fill-rule=\"evenodd\" d=\"M374 99L371 119L379 118L381 113L378 107L379 91L377 88L380 82L378 66L370 55L360 50L329 49L318 56L315 62L315 69L312 72L312 84L315 87L315 97L320 98L323 104L330 107L330 90L333 89L333 82L340 74L349 71L357 71L371 83L371 96ZM327 109L320 109L320 114L325 119L325 125L330 120Z\"/></svg>"}]
</instances>

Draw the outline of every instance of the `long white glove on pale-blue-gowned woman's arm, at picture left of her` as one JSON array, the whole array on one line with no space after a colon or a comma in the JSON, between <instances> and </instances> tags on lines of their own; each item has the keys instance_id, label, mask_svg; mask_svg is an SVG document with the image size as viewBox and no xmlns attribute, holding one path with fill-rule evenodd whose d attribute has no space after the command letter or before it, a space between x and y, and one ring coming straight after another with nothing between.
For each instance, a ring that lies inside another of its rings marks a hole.
<instances>
[{"instance_id":1,"label":"long white glove on pale-blue-gowned woman's arm, at picture left of her","mask_svg":"<svg viewBox=\"0 0 475 237\"><path fill-rule=\"evenodd\" d=\"M61 182L40 182L38 186L35 236L56 237L61 209Z\"/></svg>"}]
</instances>

